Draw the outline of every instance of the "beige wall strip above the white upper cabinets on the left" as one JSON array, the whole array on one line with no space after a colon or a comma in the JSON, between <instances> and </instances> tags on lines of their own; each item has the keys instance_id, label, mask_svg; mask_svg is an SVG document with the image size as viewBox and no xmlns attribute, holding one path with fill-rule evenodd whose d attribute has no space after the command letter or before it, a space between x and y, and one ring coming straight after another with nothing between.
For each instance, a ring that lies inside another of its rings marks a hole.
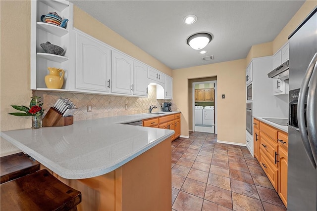
<instances>
[{"instance_id":1,"label":"beige wall strip above the white upper cabinets on the left","mask_svg":"<svg viewBox=\"0 0 317 211\"><path fill-rule=\"evenodd\" d=\"M74 27L172 76L172 70L74 5Z\"/></svg>"}]
</instances>

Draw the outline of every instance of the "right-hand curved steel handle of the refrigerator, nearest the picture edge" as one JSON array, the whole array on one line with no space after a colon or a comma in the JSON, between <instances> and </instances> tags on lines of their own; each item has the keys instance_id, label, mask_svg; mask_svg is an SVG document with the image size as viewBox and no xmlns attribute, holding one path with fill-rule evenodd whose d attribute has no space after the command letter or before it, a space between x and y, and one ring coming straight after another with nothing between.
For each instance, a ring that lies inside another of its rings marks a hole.
<instances>
[{"instance_id":1,"label":"right-hand curved steel handle of the refrigerator, nearest the picture edge","mask_svg":"<svg viewBox=\"0 0 317 211\"><path fill-rule=\"evenodd\" d=\"M315 56L317 53L315 54ZM317 163L317 64L312 73L307 95L307 129L315 163Z\"/></svg>"}]
</instances>

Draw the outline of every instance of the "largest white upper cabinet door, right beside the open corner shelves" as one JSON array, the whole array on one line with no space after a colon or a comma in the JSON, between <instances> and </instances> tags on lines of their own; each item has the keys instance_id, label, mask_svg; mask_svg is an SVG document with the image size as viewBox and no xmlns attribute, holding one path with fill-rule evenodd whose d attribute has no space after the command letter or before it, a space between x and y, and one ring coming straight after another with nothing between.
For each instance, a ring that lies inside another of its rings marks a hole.
<instances>
[{"instance_id":1,"label":"largest white upper cabinet door, right beside the open corner shelves","mask_svg":"<svg viewBox=\"0 0 317 211\"><path fill-rule=\"evenodd\" d=\"M76 88L109 92L111 50L80 33L76 41Z\"/></svg>"}]
</instances>

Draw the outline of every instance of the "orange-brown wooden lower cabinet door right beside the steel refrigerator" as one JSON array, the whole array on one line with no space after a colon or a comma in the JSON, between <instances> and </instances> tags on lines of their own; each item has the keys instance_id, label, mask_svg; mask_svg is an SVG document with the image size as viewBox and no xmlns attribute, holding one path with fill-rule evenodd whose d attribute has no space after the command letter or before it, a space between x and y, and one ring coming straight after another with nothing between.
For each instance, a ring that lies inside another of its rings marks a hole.
<instances>
[{"instance_id":1,"label":"orange-brown wooden lower cabinet door right beside the steel refrigerator","mask_svg":"<svg viewBox=\"0 0 317 211\"><path fill-rule=\"evenodd\" d=\"M279 176L278 176L278 195L284 203L285 207L287 207L287 160L288 154L287 151L279 146L278 148L278 157L279 157Z\"/></svg>"}]
</instances>

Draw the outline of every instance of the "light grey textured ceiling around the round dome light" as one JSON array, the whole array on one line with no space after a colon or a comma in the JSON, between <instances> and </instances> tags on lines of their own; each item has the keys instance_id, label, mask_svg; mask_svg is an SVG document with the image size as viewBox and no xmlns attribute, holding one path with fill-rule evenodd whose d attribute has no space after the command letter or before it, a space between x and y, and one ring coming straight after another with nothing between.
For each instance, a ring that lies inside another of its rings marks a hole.
<instances>
[{"instance_id":1,"label":"light grey textured ceiling around the round dome light","mask_svg":"<svg viewBox=\"0 0 317 211\"><path fill-rule=\"evenodd\" d=\"M171 69L246 58L254 44L271 42L305 1L299 0L70 0ZM193 25L183 18L195 14ZM186 44L197 32L212 41L201 55ZM214 60L202 57L213 55Z\"/></svg>"}]
</instances>

